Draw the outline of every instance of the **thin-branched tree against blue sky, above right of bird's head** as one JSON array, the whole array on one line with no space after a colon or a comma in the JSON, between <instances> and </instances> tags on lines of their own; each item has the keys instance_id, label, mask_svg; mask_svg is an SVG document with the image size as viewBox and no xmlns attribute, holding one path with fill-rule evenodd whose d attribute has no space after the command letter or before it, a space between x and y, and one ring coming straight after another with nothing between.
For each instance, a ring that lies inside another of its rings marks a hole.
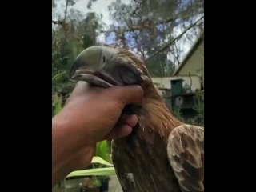
<instances>
[{"instance_id":1,"label":"thin-branched tree against blue sky, above right of bird's head","mask_svg":"<svg viewBox=\"0 0 256 192\"><path fill-rule=\"evenodd\" d=\"M116 0L109 10L114 24L106 38L111 34L115 45L140 54L154 75L170 75L184 55L182 44L191 44L203 28L201 0Z\"/></svg>"}]
</instances>

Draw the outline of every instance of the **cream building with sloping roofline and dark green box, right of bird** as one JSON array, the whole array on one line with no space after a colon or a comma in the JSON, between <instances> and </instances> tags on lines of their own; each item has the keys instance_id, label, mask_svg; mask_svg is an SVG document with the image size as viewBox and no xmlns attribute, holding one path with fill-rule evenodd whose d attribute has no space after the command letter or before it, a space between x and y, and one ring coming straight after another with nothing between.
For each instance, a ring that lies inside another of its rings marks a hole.
<instances>
[{"instance_id":1,"label":"cream building with sloping roofline and dark green box, right of bird","mask_svg":"<svg viewBox=\"0 0 256 192\"><path fill-rule=\"evenodd\" d=\"M198 110L194 107L198 101L203 102L198 94L204 89L204 33L191 46L173 77L152 78L152 81L168 108L181 110L184 118L196 117Z\"/></svg>"}]
</instances>

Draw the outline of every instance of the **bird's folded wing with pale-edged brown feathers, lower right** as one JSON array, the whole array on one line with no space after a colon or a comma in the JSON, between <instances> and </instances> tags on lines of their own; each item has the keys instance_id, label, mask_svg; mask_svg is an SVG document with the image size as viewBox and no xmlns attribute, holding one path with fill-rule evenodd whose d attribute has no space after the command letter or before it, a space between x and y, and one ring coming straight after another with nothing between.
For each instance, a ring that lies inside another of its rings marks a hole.
<instances>
[{"instance_id":1,"label":"bird's folded wing with pale-edged brown feathers, lower right","mask_svg":"<svg viewBox=\"0 0 256 192\"><path fill-rule=\"evenodd\" d=\"M167 153L182 191L204 191L204 128L174 128L168 138Z\"/></svg>"}]
</instances>

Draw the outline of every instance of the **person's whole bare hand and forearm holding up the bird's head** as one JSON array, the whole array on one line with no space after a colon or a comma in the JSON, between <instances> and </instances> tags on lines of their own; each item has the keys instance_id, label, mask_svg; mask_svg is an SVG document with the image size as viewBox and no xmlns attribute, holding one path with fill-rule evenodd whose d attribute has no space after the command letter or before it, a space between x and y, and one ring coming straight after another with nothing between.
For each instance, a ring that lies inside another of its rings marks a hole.
<instances>
[{"instance_id":1,"label":"person's whole bare hand and forearm holding up the bird's head","mask_svg":"<svg viewBox=\"0 0 256 192\"><path fill-rule=\"evenodd\" d=\"M70 172L89 166L96 142L129 135L138 117L122 119L120 115L128 104L141 105L142 98L140 86L102 89L78 82L52 119L52 186Z\"/></svg>"}]
</instances>

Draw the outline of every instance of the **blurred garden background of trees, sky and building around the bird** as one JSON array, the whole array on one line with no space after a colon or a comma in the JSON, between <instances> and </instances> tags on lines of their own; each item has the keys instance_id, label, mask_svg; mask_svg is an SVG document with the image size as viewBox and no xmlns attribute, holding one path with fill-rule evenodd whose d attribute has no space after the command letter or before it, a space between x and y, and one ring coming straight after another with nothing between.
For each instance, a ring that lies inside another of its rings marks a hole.
<instances>
[{"instance_id":1,"label":"blurred garden background of trees, sky and building around the bird","mask_svg":"<svg viewBox=\"0 0 256 192\"><path fill-rule=\"evenodd\" d=\"M52 0L52 116L74 88L68 78L74 58L89 46L110 44L144 60L176 117L203 125L203 6L203 0ZM111 163L110 142L98 143L95 156ZM90 168L110 167L97 162ZM91 191L122 191L113 171L95 175L67 178L53 191L80 191L90 182L98 186Z\"/></svg>"}]
</instances>

